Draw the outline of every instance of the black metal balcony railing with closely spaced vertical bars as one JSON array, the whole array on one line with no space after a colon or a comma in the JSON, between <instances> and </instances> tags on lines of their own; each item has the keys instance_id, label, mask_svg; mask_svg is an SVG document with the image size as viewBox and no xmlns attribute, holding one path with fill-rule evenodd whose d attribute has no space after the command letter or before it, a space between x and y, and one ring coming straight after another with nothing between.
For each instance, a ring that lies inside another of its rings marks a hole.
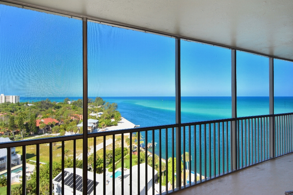
<instances>
[{"instance_id":1,"label":"black metal balcony railing with closely spaced vertical bars","mask_svg":"<svg viewBox=\"0 0 293 195\"><path fill-rule=\"evenodd\" d=\"M73 140L73 164L75 165L77 159L76 141L82 139L83 135L2 143L0 148L7 148L7 158L11 159L11 148L21 146L22 170L26 170L26 146L36 145L35 169L36 177L39 178L40 144L49 144L49 194L53 194L55 190L53 185L57 185L56 182L59 180L60 191L58 193L60 194L65 194L64 190L72 189L75 195L77 190L82 191L82 187L78 186L87 186L88 194L165 194L195 186L230 172L291 153L293 145L292 117L293 113L274 114L184 123L180 126L175 124L91 133L87 137L93 139L94 165L96 165L95 146L97 145L97 138L103 139L103 170L102 174L86 172L88 185L77 182L79 176L75 166L71 175L64 167L64 143ZM121 156L124 156L124 135L129 134L129 143L132 143L132 139L134 139L132 134L136 133L144 134L144 140L147 140L144 142L145 149L141 147L140 142L137 142L135 146L130 144L129 169L124 168L125 158L121 158L121 167L123 166L121 176L115 178L115 161L113 160L111 165L107 165L112 167L112 178L110 178L107 175L109 172L106 173L106 136L110 135L113 139L112 157L115 157L115 135L121 135ZM56 181L55 184L53 184L54 178L52 176L53 142L61 142L62 148L62 171L59 174L59 180L54 180ZM149 143L149 146L152 145L148 152L146 152L147 143ZM165 150L162 149L162 146L165 147ZM139 164L136 167L132 166L132 151L135 147ZM146 153L144 164L139 163L140 152ZM165 157L165 160L163 157ZM87 161L88 155L84 154L83 163L87 164ZM181 171L181 162L183 163L183 171ZM163 164L165 164L164 168ZM172 166L172 168L168 168L168 166ZM96 173L96 169L97 167L93 166L92 171ZM22 174L22 177L26 178L26 172L24 171ZM169 178L170 176L171 178ZM39 180L36 179L36 182L36 192L39 194ZM163 185L163 183L165 184ZM23 194L25 194L25 181L22 182L22 186ZM11 193L10 189L11 161L7 161L7 194ZM80 193L78 192L78 194Z\"/></svg>"}]
</instances>

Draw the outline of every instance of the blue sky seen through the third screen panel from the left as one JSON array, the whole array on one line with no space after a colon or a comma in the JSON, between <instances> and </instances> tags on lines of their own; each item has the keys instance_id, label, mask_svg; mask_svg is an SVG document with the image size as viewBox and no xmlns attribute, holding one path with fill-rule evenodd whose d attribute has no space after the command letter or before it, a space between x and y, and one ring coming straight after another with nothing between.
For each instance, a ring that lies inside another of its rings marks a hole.
<instances>
[{"instance_id":1,"label":"blue sky seen through the third screen panel from the left","mask_svg":"<svg viewBox=\"0 0 293 195\"><path fill-rule=\"evenodd\" d=\"M231 50L181 41L181 96L231 96Z\"/></svg>"}]
</instances>

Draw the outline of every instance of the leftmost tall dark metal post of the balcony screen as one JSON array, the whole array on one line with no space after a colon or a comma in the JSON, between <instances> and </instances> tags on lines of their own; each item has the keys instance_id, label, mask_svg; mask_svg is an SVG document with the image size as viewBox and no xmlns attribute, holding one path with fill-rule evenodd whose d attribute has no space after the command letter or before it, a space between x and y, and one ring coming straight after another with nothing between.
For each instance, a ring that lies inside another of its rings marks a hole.
<instances>
[{"instance_id":1,"label":"leftmost tall dark metal post of the balcony screen","mask_svg":"<svg viewBox=\"0 0 293 195\"><path fill-rule=\"evenodd\" d=\"M82 21L83 42L83 150L82 150L82 194L87 195L88 187L88 55L87 55L87 18ZM104 183L105 185L105 183Z\"/></svg>"}]
</instances>

